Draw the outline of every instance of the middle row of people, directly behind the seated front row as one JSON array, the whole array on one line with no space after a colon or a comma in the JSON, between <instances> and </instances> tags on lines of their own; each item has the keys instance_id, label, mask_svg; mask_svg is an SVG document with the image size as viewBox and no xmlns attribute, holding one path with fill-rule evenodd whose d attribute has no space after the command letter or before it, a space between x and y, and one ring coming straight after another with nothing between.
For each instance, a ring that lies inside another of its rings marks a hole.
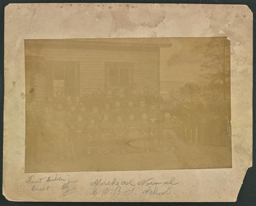
<instances>
[{"instance_id":1,"label":"middle row of people, directly behind the seated front row","mask_svg":"<svg viewBox=\"0 0 256 206\"><path fill-rule=\"evenodd\" d=\"M42 124L45 122L64 121L67 125L72 126L78 115L83 118L84 122L88 123L89 119L95 119L96 122L101 121L104 114L108 115L110 122L115 122L118 116L121 116L123 121L127 121L130 113L133 113L136 119L141 118L141 115L146 113L148 119L154 122L155 119L162 120L165 111L163 107L157 107L155 103L151 104L150 108L147 108L144 101L140 102L139 107L134 107L133 102L129 101L126 108L120 107L119 101L115 102L114 108L110 108L110 105L106 103L105 107L101 110L97 107L92 107L88 110L84 106L71 106L69 109L63 109L62 105L58 104L55 110L47 106L44 107L42 113L39 115L39 121Z\"/></svg>"}]
</instances>

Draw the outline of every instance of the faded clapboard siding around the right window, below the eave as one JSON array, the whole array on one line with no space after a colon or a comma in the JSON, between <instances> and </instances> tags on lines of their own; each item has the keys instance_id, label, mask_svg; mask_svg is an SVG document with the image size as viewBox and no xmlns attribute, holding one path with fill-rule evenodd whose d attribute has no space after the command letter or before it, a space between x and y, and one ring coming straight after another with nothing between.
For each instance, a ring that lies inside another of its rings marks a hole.
<instances>
[{"instance_id":1,"label":"faded clapboard siding around the right window, below the eave","mask_svg":"<svg viewBox=\"0 0 256 206\"><path fill-rule=\"evenodd\" d=\"M103 50L74 48L43 48L41 55L47 61L76 61L80 68L80 94L85 88L96 90L105 84L107 62L132 63L133 82L139 90L158 87L158 49L155 50Z\"/></svg>"}]
</instances>

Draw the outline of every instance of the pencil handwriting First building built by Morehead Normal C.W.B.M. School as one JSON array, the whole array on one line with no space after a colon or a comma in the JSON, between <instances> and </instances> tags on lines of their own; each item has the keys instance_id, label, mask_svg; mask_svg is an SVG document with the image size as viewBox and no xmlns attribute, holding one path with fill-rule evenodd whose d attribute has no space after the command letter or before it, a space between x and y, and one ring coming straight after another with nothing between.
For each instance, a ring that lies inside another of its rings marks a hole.
<instances>
[{"instance_id":1,"label":"pencil handwriting First building built by Morehead Normal C.W.B.M. School","mask_svg":"<svg viewBox=\"0 0 256 206\"><path fill-rule=\"evenodd\" d=\"M25 184L28 185L28 190L32 193L59 191L60 196L67 196L75 194L78 179L71 178L69 175L60 176L58 174L43 177L30 175L25 180ZM95 178L87 184L90 186L88 194L94 197L131 197L136 194L143 196L171 195L178 182L175 177L170 177L165 181L157 181L154 177L145 179L118 179L114 177L110 180Z\"/></svg>"}]
</instances>

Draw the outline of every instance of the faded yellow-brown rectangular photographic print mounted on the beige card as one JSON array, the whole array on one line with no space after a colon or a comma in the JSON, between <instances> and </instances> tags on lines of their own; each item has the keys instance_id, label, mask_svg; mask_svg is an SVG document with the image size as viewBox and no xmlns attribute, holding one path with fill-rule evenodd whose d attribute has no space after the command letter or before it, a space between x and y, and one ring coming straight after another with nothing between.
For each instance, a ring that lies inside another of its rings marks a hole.
<instances>
[{"instance_id":1,"label":"faded yellow-brown rectangular photographic print mounted on the beige card","mask_svg":"<svg viewBox=\"0 0 256 206\"><path fill-rule=\"evenodd\" d=\"M24 44L25 173L232 167L227 37Z\"/></svg>"}]
</instances>

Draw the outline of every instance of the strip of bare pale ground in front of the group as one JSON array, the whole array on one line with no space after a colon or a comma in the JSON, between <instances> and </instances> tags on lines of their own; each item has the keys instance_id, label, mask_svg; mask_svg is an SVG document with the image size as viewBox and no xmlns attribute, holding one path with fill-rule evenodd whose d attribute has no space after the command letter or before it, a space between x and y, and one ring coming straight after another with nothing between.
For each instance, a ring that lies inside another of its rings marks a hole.
<instances>
[{"instance_id":1,"label":"strip of bare pale ground in front of the group","mask_svg":"<svg viewBox=\"0 0 256 206\"><path fill-rule=\"evenodd\" d=\"M42 158L29 164L27 172L169 170L232 167L231 147L183 144L176 150L137 151L99 155L96 151L80 158Z\"/></svg>"}]
</instances>

